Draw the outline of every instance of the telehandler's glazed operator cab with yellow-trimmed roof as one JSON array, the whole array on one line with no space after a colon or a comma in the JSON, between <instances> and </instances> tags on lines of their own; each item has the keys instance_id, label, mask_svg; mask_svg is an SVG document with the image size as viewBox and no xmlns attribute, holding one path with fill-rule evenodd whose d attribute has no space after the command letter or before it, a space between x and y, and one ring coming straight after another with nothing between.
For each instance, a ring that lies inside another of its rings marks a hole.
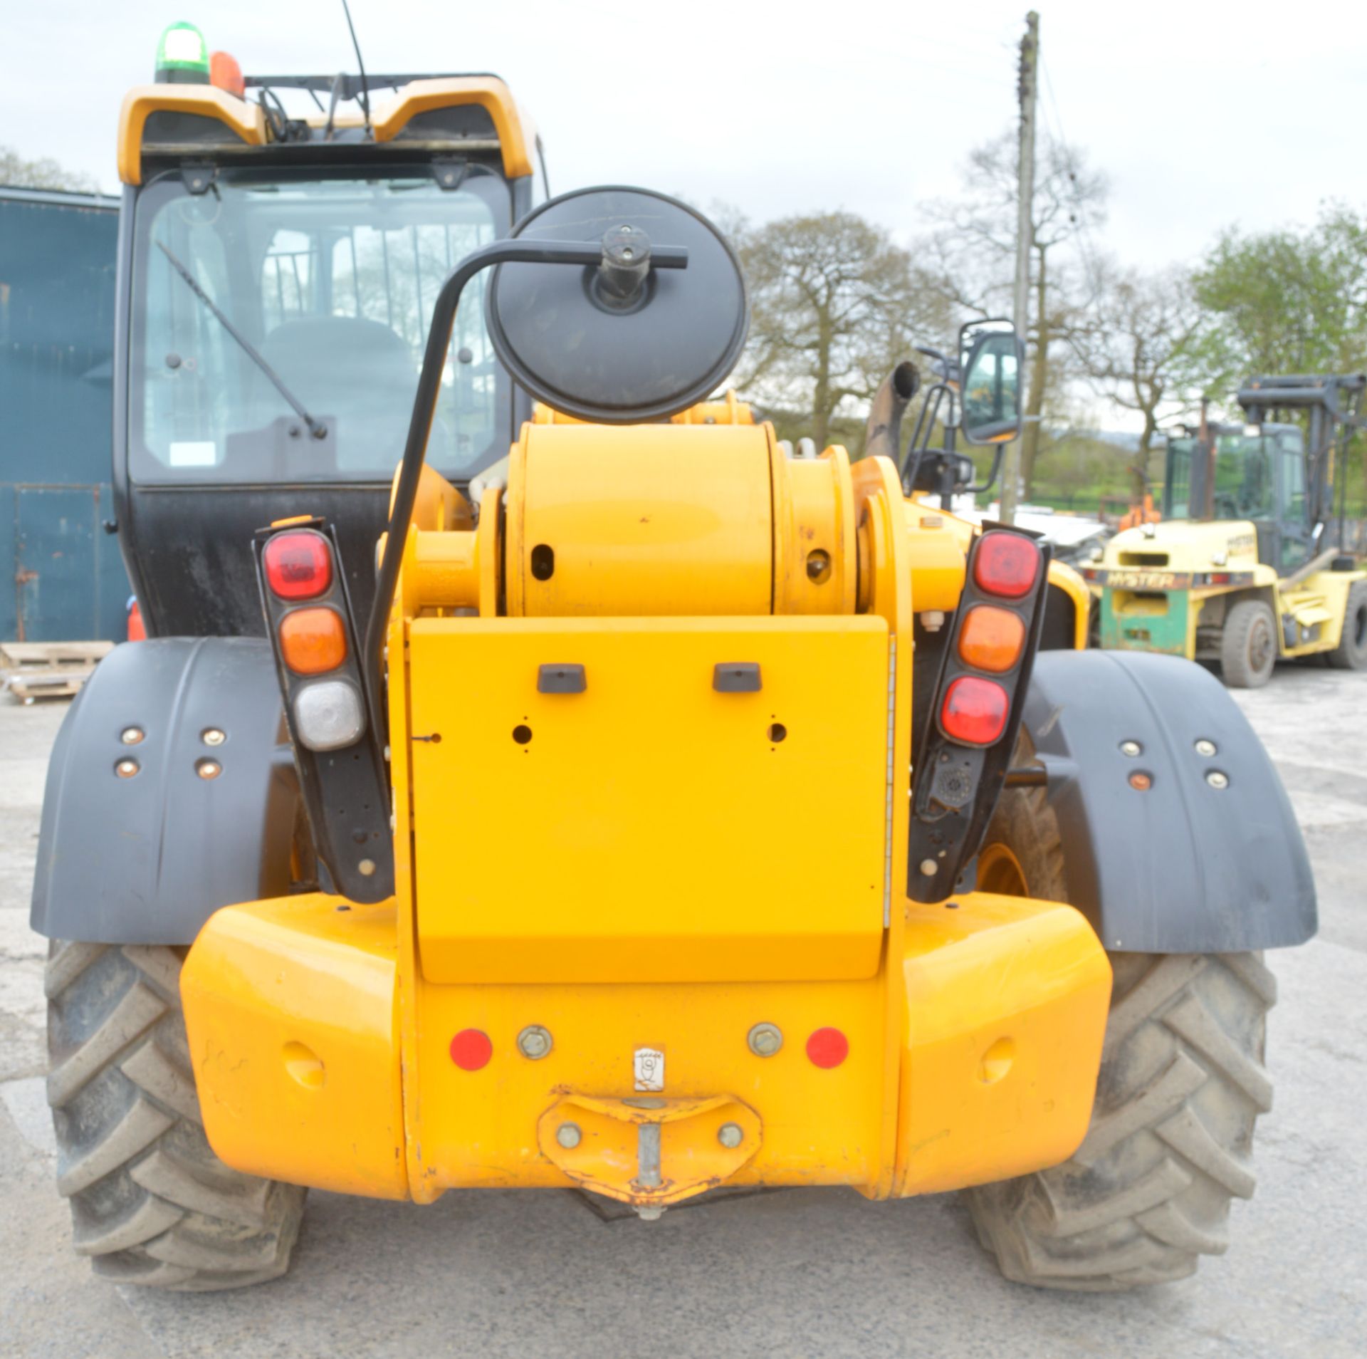
<instances>
[{"instance_id":1,"label":"telehandler's glazed operator cab with yellow-trimmed roof","mask_svg":"<svg viewBox=\"0 0 1367 1359\"><path fill-rule=\"evenodd\" d=\"M149 634L261 634L252 537L299 513L366 611L437 290L547 197L534 130L488 75L249 77L134 89L119 150L113 489ZM468 484L529 416L481 280L431 461Z\"/></svg>"}]
</instances>

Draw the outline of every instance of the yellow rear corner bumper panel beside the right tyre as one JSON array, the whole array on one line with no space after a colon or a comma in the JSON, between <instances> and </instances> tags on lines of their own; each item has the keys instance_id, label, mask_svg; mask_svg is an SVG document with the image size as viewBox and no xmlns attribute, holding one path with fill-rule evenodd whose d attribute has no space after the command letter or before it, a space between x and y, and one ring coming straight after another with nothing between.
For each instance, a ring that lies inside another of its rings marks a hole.
<instances>
[{"instance_id":1,"label":"yellow rear corner bumper panel beside the right tyre","mask_svg":"<svg viewBox=\"0 0 1367 1359\"><path fill-rule=\"evenodd\" d=\"M1057 1165L1087 1133L1110 964L1072 906L909 906L897 1194Z\"/></svg>"}]
</instances>

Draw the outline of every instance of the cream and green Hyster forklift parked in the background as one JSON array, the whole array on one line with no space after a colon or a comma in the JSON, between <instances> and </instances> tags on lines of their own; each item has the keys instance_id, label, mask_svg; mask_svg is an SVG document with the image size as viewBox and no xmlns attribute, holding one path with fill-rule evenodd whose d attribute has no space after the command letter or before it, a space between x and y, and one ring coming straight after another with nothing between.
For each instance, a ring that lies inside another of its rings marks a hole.
<instances>
[{"instance_id":1,"label":"cream and green Hyster forklift parked in the background","mask_svg":"<svg viewBox=\"0 0 1367 1359\"><path fill-rule=\"evenodd\" d=\"M1344 533L1364 388L1363 373L1255 377L1247 425L1170 438L1162 522L1117 533L1083 571L1100 644L1218 660L1239 689L1278 659L1367 669L1367 570Z\"/></svg>"}]
</instances>

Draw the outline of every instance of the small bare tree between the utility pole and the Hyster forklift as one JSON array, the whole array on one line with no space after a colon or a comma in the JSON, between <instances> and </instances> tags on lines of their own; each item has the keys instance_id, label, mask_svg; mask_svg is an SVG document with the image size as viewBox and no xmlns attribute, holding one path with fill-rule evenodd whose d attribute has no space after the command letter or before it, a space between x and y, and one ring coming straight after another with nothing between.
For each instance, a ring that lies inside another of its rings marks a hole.
<instances>
[{"instance_id":1,"label":"small bare tree between the utility pole and the Hyster forklift","mask_svg":"<svg viewBox=\"0 0 1367 1359\"><path fill-rule=\"evenodd\" d=\"M1141 499L1159 412L1180 414L1200 391L1202 310L1185 269L1107 271L1100 280L1092 323L1070 343L1092 387L1144 421L1133 469Z\"/></svg>"}]
</instances>

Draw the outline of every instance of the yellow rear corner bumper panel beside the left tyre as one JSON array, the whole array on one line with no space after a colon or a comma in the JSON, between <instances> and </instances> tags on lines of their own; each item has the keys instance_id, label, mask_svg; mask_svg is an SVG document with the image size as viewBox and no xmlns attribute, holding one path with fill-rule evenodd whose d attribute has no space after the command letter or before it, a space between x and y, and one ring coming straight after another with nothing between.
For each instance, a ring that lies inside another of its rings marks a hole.
<instances>
[{"instance_id":1,"label":"yellow rear corner bumper panel beside the left tyre","mask_svg":"<svg viewBox=\"0 0 1367 1359\"><path fill-rule=\"evenodd\" d=\"M394 902L227 906L180 973L209 1146L235 1170L407 1198Z\"/></svg>"}]
</instances>

